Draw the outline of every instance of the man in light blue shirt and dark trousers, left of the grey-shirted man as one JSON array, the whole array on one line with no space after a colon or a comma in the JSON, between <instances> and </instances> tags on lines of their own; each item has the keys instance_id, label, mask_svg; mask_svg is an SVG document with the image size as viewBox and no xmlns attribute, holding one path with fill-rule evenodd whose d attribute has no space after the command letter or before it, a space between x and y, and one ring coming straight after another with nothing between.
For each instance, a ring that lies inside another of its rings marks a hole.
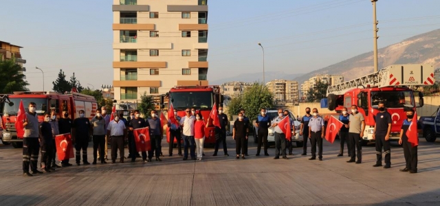
<instances>
[{"instance_id":1,"label":"man in light blue shirt and dark trousers, left of the grey-shirted man","mask_svg":"<svg viewBox=\"0 0 440 206\"><path fill-rule=\"evenodd\" d=\"M309 139L311 143L311 158L316 159L316 144L318 144L318 157L322 161L322 138L324 138L324 119L318 115L318 108L312 110L313 117L309 119Z\"/></svg>"}]
</instances>

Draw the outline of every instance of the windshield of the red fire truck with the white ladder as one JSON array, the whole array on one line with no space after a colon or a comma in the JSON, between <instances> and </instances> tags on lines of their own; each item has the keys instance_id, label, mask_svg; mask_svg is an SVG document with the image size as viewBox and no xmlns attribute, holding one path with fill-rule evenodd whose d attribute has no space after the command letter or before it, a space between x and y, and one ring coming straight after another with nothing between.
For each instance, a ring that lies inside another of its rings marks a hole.
<instances>
[{"instance_id":1,"label":"windshield of the red fire truck with the white ladder","mask_svg":"<svg viewBox=\"0 0 440 206\"><path fill-rule=\"evenodd\" d=\"M412 91L372 91L371 107L377 108L379 102L384 102L386 108L414 107Z\"/></svg>"}]
</instances>

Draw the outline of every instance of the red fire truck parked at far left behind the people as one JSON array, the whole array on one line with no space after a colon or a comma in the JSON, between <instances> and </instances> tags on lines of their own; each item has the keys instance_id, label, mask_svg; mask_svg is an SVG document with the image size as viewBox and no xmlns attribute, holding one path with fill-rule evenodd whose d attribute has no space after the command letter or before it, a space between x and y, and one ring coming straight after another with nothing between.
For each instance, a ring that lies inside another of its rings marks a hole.
<instances>
[{"instance_id":1,"label":"red fire truck parked at far left behind the people","mask_svg":"<svg viewBox=\"0 0 440 206\"><path fill-rule=\"evenodd\" d=\"M79 111L84 110L85 116L91 119L96 115L98 104L93 96L82 93L56 93L46 91L16 91L7 97L7 104L3 104L3 116L1 117L3 135L1 141L5 144L12 143L14 148L23 146L23 137L17 137L15 119L19 111L20 101L23 100L25 111L28 112L30 102L36 103L36 114L39 122L43 122L44 113L56 111L61 117L63 111L68 111L70 118L79 117Z\"/></svg>"}]
</instances>

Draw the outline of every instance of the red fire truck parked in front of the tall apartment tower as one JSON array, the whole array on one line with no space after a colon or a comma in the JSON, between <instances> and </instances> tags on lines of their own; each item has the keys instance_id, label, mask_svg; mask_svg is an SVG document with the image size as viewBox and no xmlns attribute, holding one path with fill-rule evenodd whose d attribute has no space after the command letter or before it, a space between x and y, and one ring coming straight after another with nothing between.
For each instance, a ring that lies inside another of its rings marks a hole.
<instances>
[{"instance_id":1,"label":"red fire truck parked in front of the tall apartment tower","mask_svg":"<svg viewBox=\"0 0 440 206\"><path fill-rule=\"evenodd\" d=\"M219 86L194 86L194 87L173 87L170 89L166 95L161 98L161 107L164 108L164 102L168 102L166 108L169 111L171 104L173 108L177 110L177 115L179 117L184 117L186 115L186 108L195 108L197 113L201 113L205 121L208 119L209 114L212 110L212 106L217 104L220 106L223 104L223 95L220 94ZM212 146L215 144L215 130L212 124L212 119L208 128L205 128L205 143L204 145ZM170 132L169 128L166 129L166 141L170 142ZM174 140L174 144L177 144L177 140Z\"/></svg>"}]
</instances>

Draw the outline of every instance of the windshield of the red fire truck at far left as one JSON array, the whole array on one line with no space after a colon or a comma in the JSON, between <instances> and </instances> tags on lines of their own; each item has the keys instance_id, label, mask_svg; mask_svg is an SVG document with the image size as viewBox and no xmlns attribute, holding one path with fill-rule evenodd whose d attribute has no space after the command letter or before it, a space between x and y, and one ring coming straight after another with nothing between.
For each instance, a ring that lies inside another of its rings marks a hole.
<instances>
[{"instance_id":1,"label":"windshield of the red fire truck at far left","mask_svg":"<svg viewBox=\"0 0 440 206\"><path fill-rule=\"evenodd\" d=\"M9 104L5 104L3 108L3 114L8 115L17 115L19 112L20 100L23 100L23 106L25 111L28 112L28 107L30 102L34 102L36 104L36 113L41 115L47 112L47 99L44 98L9 98L11 102L14 102L14 105L9 106Z\"/></svg>"}]
</instances>

